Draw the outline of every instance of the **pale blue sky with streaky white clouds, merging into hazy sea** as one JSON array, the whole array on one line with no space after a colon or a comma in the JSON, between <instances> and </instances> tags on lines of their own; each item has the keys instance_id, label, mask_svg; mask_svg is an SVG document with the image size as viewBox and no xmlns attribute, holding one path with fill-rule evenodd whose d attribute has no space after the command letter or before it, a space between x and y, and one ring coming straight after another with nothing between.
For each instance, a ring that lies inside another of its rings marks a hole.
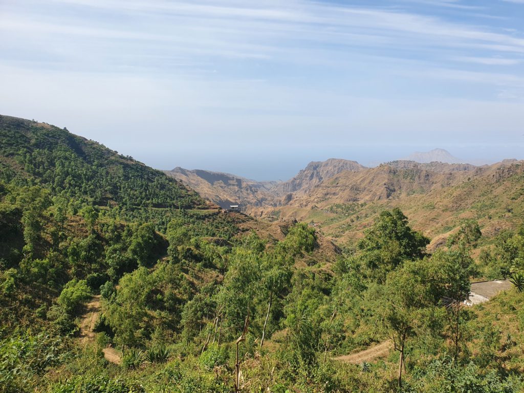
<instances>
[{"instance_id":1,"label":"pale blue sky with streaky white clouds, merging into hazy sea","mask_svg":"<svg viewBox=\"0 0 524 393\"><path fill-rule=\"evenodd\" d=\"M524 0L0 0L0 114L256 180L523 159Z\"/></svg>"}]
</instances>

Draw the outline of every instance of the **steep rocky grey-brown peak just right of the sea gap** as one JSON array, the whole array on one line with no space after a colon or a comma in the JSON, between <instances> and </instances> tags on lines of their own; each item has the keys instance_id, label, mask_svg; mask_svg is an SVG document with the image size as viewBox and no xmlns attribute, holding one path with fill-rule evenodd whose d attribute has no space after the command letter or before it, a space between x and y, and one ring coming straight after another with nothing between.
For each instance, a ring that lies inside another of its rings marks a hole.
<instances>
[{"instance_id":1,"label":"steep rocky grey-brown peak just right of the sea gap","mask_svg":"<svg viewBox=\"0 0 524 393\"><path fill-rule=\"evenodd\" d=\"M344 171L360 172L364 169L366 169L366 167L356 161L338 158L330 158L326 161L313 161L302 169L297 176L277 184L272 189L272 192L277 195L286 195L289 193L303 195L316 184L319 184L323 180L330 179L338 173Z\"/></svg>"}]
</instances>

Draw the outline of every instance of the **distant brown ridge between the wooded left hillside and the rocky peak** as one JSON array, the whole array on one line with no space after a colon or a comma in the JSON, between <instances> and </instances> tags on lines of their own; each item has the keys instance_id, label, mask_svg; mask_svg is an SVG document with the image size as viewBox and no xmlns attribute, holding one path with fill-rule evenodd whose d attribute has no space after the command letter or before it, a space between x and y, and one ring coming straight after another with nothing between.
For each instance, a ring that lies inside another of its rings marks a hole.
<instances>
[{"instance_id":1,"label":"distant brown ridge between the wooded left hillside and the rocky peak","mask_svg":"<svg viewBox=\"0 0 524 393\"><path fill-rule=\"evenodd\" d=\"M279 200L270 192L276 181L249 180L230 173L212 172L180 167L165 171L188 187L196 190L202 198L224 209L232 204L241 206L277 206Z\"/></svg>"}]
</instances>

